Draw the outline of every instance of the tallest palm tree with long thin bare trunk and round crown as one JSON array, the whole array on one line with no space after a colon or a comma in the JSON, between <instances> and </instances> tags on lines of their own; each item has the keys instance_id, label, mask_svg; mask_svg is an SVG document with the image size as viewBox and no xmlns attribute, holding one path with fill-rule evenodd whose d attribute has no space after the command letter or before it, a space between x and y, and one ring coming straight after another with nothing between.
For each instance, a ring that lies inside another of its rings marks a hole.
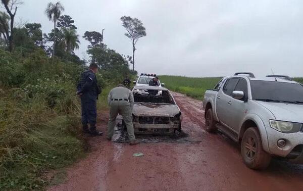
<instances>
[{"instance_id":1,"label":"tallest palm tree with long thin bare trunk and round crown","mask_svg":"<svg viewBox=\"0 0 303 191\"><path fill-rule=\"evenodd\" d=\"M53 57L55 56L55 44L56 44L56 23L59 19L61 13L64 11L64 7L61 5L60 2L57 2L56 4L48 3L45 14L49 21L54 21L54 45L53 45Z\"/></svg>"}]
</instances>

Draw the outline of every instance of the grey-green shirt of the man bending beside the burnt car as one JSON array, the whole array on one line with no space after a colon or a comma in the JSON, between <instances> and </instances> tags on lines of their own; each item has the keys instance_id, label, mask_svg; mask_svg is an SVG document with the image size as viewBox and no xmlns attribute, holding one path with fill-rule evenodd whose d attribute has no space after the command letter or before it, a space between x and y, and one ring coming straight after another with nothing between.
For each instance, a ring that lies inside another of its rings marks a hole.
<instances>
[{"instance_id":1,"label":"grey-green shirt of the man bending beside the burnt car","mask_svg":"<svg viewBox=\"0 0 303 191\"><path fill-rule=\"evenodd\" d=\"M115 99L122 99L122 101L115 101ZM125 101L128 100L128 101ZM109 105L129 105L132 109L134 106L134 97L132 92L125 87L115 87L108 95Z\"/></svg>"}]
</instances>

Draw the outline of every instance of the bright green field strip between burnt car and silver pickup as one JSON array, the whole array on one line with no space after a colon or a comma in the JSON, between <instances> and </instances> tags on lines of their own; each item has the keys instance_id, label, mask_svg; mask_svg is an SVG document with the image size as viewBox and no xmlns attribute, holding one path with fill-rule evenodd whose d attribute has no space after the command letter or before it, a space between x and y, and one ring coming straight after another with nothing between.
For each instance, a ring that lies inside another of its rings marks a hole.
<instances>
[{"instance_id":1,"label":"bright green field strip between burnt car and silver pickup","mask_svg":"<svg viewBox=\"0 0 303 191\"><path fill-rule=\"evenodd\" d=\"M159 78L170 90L198 100L203 100L205 91L213 88L221 79L221 77L193 78L184 76L159 76Z\"/></svg>"}]
</instances>

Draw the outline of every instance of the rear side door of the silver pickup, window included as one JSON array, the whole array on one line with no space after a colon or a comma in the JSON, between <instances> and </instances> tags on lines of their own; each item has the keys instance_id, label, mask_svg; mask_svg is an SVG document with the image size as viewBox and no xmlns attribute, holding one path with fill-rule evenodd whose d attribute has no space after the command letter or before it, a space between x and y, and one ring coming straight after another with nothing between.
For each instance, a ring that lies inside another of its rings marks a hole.
<instances>
[{"instance_id":1,"label":"rear side door of the silver pickup, window included","mask_svg":"<svg viewBox=\"0 0 303 191\"><path fill-rule=\"evenodd\" d=\"M228 126L230 124L230 104L229 101L231 98L231 92L235 89L236 84L238 83L239 78L229 78L224 83L223 88L221 88L217 94L216 98L216 111L218 118L221 123Z\"/></svg>"}]
</instances>

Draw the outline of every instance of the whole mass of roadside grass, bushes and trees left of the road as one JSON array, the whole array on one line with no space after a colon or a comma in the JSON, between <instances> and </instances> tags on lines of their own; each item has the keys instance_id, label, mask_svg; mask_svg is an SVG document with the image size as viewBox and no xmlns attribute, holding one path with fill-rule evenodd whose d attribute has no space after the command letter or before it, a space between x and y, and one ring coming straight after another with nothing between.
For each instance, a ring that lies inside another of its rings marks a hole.
<instances>
[{"instance_id":1,"label":"whole mass of roadside grass, bushes and trees left of the road","mask_svg":"<svg viewBox=\"0 0 303 191\"><path fill-rule=\"evenodd\" d=\"M98 109L103 110L111 87L126 75L134 78L136 71L129 70L130 57L109 49L96 31L83 35L89 60L75 55L80 35L72 17L62 15L60 3L46 7L45 16L54 25L48 34L39 23L15 27L11 13L18 14L21 1L2 1L1 6L0 190L43 189L54 182L44 178L49 170L85 156L75 93L81 72L89 63L99 66L96 77L103 92Z\"/></svg>"}]
</instances>

